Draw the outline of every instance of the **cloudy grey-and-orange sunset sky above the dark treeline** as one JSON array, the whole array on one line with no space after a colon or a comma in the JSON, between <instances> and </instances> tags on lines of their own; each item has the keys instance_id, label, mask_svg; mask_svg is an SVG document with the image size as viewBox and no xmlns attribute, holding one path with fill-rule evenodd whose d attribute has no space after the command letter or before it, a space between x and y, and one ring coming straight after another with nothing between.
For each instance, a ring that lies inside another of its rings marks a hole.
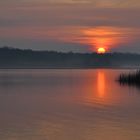
<instances>
[{"instance_id":1,"label":"cloudy grey-and-orange sunset sky above the dark treeline","mask_svg":"<svg viewBox=\"0 0 140 140\"><path fill-rule=\"evenodd\" d=\"M0 46L140 53L140 0L0 1Z\"/></svg>"}]
</instances>

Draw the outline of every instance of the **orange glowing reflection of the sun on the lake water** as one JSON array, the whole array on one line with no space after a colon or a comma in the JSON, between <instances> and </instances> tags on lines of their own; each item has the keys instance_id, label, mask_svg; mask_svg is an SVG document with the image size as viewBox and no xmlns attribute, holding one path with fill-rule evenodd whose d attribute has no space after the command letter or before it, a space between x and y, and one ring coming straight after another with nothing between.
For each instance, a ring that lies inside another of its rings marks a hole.
<instances>
[{"instance_id":1,"label":"orange glowing reflection of the sun on the lake water","mask_svg":"<svg viewBox=\"0 0 140 140\"><path fill-rule=\"evenodd\" d=\"M86 83L84 82L81 86L81 93L83 93L82 102L84 104L90 106L100 104L104 106L121 102L121 92L118 93L116 90L119 87L114 80L114 77L116 77L115 73L109 70L98 69L96 72L89 71L86 77Z\"/></svg>"}]
</instances>

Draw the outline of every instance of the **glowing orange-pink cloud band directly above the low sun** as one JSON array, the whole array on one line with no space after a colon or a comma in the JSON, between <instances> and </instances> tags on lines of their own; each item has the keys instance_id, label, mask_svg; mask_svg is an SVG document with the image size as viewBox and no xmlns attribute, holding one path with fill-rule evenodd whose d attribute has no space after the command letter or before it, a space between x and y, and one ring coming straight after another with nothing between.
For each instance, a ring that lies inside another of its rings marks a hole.
<instances>
[{"instance_id":1,"label":"glowing orange-pink cloud band directly above the low sun","mask_svg":"<svg viewBox=\"0 0 140 140\"><path fill-rule=\"evenodd\" d=\"M109 26L62 26L62 27L14 27L1 28L0 38L13 40L52 41L67 44L90 46L95 51L99 47L108 50L122 44L129 44L139 40L140 30L137 28L109 27ZM57 45L56 45L57 46ZM57 48L57 47L56 47Z\"/></svg>"}]
</instances>

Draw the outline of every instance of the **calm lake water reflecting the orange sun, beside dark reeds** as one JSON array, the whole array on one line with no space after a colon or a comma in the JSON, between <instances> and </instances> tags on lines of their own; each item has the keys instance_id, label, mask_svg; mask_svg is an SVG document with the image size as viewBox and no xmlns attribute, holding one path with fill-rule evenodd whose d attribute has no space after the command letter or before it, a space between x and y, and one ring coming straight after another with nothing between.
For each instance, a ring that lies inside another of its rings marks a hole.
<instances>
[{"instance_id":1,"label":"calm lake water reflecting the orange sun, beside dark reeds","mask_svg":"<svg viewBox=\"0 0 140 140\"><path fill-rule=\"evenodd\" d=\"M126 70L0 70L0 140L140 140Z\"/></svg>"}]
</instances>

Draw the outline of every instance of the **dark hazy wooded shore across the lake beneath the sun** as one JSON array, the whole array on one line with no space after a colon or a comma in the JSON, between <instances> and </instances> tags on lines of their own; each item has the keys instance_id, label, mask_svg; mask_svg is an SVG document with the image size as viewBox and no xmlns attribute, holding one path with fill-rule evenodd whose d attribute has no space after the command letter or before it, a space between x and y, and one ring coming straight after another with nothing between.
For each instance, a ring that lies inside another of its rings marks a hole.
<instances>
[{"instance_id":1,"label":"dark hazy wooded shore across the lake beneath the sun","mask_svg":"<svg viewBox=\"0 0 140 140\"><path fill-rule=\"evenodd\" d=\"M73 53L0 48L0 69L139 69L140 54Z\"/></svg>"}]
</instances>

